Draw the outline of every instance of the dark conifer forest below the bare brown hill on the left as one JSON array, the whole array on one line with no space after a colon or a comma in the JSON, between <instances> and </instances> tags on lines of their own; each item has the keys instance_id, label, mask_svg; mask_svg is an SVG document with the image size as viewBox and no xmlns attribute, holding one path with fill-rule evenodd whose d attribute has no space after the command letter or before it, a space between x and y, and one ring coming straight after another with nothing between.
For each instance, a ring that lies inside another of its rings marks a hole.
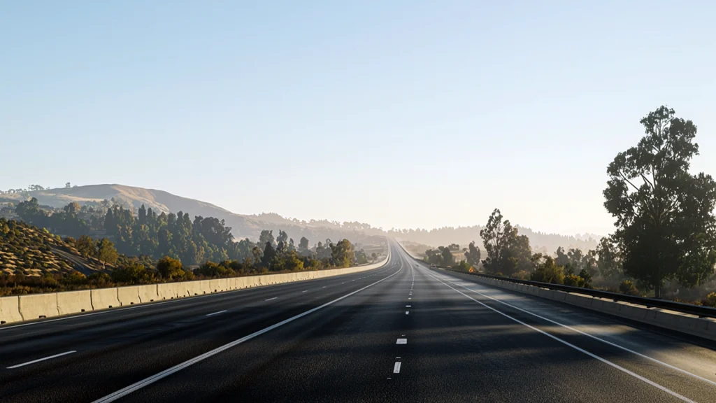
<instances>
[{"instance_id":1,"label":"dark conifer forest below the bare brown hill on the left","mask_svg":"<svg viewBox=\"0 0 716 403\"><path fill-rule=\"evenodd\" d=\"M75 238L107 237L120 254L145 255L154 259L168 256L184 265L200 265L207 261L266 260L263 255L267 242L277 251L316 256L319 260L326 258L333 247L333 242L326 240L325 245L318 242L311 248L305 237L294 242L284 231L279 231L274 239L273 231L269 230L261 232L258 242L248 238L235 242L231 227L227 227L223 219L201 216L191 219L185 212L157 214L143 205L135 215L132 210L112 201L82 206L73 202L59 210L48 210L33 198L17 204L15 212L25 222L50 229L56 234ZM371 258L374 260L374 256L367 256L359 249L360 245L355 247L358 264Z\"/></svg>"}]
</instances>

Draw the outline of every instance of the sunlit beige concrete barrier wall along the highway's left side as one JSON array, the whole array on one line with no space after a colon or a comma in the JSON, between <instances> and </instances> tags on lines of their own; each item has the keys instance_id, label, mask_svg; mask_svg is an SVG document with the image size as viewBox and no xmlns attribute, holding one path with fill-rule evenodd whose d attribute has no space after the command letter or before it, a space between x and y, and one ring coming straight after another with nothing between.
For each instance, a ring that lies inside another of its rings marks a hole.
<instances>
[{"instance_id":1,"label":"sunlit beige concrete barrier wall along the highway's left side","mask_svg":"<svg viewBox=\"0 0 716 403\"><path fill-rule=\"evenodd\" d=\"M291 272L275 275L253 275L237 278L184 281L152 285L133 285L120 288L68 291L64 293L31 294L0 298L0 322L29 321L42 316L51 317L70 313L116 308L138 303L169 300L185 296L204 295L228 290L312 280L382 267L388 258L374 263L345 269Z\"/></svg>"}]
</instances>

